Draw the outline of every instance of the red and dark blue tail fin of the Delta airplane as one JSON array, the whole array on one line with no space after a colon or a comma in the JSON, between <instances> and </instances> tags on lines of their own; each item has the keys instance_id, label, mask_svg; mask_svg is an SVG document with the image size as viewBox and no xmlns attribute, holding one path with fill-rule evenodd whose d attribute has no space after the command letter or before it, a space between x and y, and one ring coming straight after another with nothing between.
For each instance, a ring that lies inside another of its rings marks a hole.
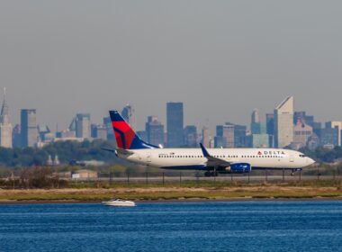
<instances>
[{"instance_id":1,"label":"red and dark blue tail fin of the Delta airplane","mask_svg":"<svg viewBox=\"0 0 342 252\"><path fill-rule=\"evenodd\" d=\"M158 148L139 139L139 136L130 128L130 124L121 117L119 112L110 111L109 114L111 115L112 129L114 130L118 148Z\"/></svg>"}]
</instances>

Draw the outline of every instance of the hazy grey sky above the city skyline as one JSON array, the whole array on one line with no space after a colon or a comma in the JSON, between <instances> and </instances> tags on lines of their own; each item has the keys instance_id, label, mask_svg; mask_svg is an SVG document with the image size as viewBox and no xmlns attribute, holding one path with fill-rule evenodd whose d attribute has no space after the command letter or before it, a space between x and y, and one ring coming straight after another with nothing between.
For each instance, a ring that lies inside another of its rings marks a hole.
<instances>
[{"instance_id":1,"label":"hazy grey sky above the city skyline","mask_svg":"<svg viewBox=\"0 0 342 252\"><path fill-rule=\"evenodd\" d=\"M289 94L342 120L341 1L2 0L0 86L12 119L37 108L52 130L131 103L141 129L166 102L186 124L249 123Z\"/></svg>"}]
</instances>

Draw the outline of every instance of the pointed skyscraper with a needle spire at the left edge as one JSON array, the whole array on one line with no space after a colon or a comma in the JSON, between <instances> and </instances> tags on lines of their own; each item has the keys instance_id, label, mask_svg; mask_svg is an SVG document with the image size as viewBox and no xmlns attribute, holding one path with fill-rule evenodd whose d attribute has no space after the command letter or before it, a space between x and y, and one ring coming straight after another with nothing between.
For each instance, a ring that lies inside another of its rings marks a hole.
<instances>
[{"instance_id":1,"label":"pointed skyscraper with a needle spire at the left edge","mask_svg":"<svg viewBox=\"0 0 342 252\"><path fill-rule=\"evenodd\" d=\"M5 99L5 89L4 89L4 102L1 108L0 114L0 146L4 148L12 148L12 124L10 120L10 114L8 110L8 105Z\"/></svg>"}]
</instances>

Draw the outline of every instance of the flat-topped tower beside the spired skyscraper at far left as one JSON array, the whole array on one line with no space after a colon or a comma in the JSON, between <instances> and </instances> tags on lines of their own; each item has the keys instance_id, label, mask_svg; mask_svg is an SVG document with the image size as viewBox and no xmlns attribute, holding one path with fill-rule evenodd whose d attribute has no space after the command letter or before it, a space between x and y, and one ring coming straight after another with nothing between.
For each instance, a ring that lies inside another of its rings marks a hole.
<instances>
[{"instance_id":1,"label":"flat-topped tower beside the spired skyscraper at far left","mask_svg":"<svg viewBox=\"0 0 342 252\"><path fill-rule=\"evenodd\" d=\"M37 112L32 109L21 111L22 147L34 147L38 142Z\"/></svg>"}]
</instances>

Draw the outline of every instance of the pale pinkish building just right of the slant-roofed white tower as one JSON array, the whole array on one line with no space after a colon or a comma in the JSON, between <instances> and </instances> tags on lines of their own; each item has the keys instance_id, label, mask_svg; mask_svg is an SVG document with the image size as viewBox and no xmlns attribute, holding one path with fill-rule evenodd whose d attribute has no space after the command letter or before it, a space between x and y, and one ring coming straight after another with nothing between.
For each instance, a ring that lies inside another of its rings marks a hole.
<instances>
[{"instance_id":1,"label":"pale pinkish building just right of the slant-roofed white tower","mask_svg":"<svg viewBox=\"0 0 342 252\"><path fill-rule=\"evenodd\" d=\"M304 119L298 118L296 125L293 127L293 142L291 143L291 148L300 149L306 147L312 134L312 127Z\"/></svg>"}]
</instances>

